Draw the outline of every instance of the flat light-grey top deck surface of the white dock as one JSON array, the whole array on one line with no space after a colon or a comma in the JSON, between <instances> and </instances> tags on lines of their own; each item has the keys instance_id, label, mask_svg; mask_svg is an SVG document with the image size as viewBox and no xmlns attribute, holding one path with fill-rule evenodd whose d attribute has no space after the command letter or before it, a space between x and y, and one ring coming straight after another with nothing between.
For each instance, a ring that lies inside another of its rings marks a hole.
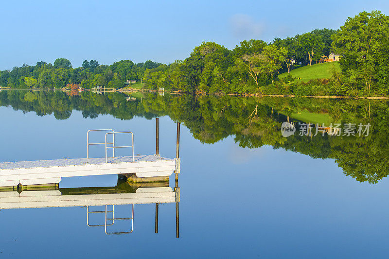
<instances>
[{"instance_id":1,"label":"flat light-grey top deck surface of the white dock","mask_svg":"<svg viewBox=\"0 0 389 259\"><path fill-rule=\"evenodd\" d=\"M135 155L134 162L151 162L174 160L171 158L160 157L156 155ZM132 156L108 157L108 164L112 163L129 163ZM21 162L0 162L0 171L9 169L57 167L57 166L77 166L77 165L98 165L106 164L106 158L63 158L53 160L21 161Z\"/></svg>"}]
</instances>

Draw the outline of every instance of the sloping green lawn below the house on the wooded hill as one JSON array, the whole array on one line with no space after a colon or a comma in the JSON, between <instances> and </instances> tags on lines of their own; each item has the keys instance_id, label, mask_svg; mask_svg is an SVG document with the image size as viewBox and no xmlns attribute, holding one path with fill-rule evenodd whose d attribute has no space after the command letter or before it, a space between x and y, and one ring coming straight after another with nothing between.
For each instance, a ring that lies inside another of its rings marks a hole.
<instances>
[{"instance_id":1,"label":"sloping green lawn below the house on the wooded hill","mask_svg":"<svg viewBox=\"0 0 389 259\"><path fill-rule=\"evenodd\" d=\"M301 77L299 81L308 82L311 79L330 78L332 77L332 69L335 66L340 71L339 62L327 62L322 64L316 64L312 66L304 66L298 69L293 69L290 74L293 77ZM284 78L288 76L288 72L282 73L278 78Z\"/></svg>"}]
</instances>

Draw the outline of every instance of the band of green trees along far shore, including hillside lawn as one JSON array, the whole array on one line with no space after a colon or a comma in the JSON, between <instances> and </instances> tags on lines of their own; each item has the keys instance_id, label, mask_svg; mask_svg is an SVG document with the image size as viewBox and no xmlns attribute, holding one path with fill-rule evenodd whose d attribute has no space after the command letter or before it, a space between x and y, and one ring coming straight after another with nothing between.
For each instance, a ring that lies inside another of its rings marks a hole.
<instances>
[{"instance_id":1,"label":"band of green trees along far shore, including hillside lawn","mask_svg":"<svg viewBox=\"0 0 389 259\"><path fill-rule=\"evenodd\" d=\"M118 89L134 82L142 82L145 89L200 94L385 97L389 95L389 17L364 11L347 18L337 30L315 29L270 43L244 40L232 50L203 42L185 60L168 65L150 60L100 65L85 60L82 67L73 68L68 59L58 58L53 64L40 61L0 71L0 85L11 88L76 84Z\"/></svg>"}]
</instances>

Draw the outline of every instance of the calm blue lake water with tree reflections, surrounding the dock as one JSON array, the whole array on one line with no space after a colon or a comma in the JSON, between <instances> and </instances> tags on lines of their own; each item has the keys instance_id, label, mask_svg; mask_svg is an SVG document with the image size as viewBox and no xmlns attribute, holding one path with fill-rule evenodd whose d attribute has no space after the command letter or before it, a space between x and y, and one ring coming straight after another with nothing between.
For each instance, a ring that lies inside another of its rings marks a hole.
<instances>
[{"instance_id":1,"label":"calm blue lake water with tree reflections, surrounding the dock","mask_svg":"<svg viewBox=\"0 0 389 259\"><path fill-rule=\"evenodd\" d=\"M0 162L86 157L86 132L98 128L131 130L135 153L155 154L156 117L160 154L175 157L181 122L179 238L175 203L159 205L158 234L154 204L134 206L125 235L88 227L85 207L2 209L0 257L388 257L386 101L20 90L0 92L0 105ZM285 121L297 129L287 138ZM309 122L325 123L324 136L304 134ZM340 136L329 136L330 123ZM74 177L59 188L117 183L116 175ZM128 216L129 206L117 211Z\"/></svg>"}]
</instances>

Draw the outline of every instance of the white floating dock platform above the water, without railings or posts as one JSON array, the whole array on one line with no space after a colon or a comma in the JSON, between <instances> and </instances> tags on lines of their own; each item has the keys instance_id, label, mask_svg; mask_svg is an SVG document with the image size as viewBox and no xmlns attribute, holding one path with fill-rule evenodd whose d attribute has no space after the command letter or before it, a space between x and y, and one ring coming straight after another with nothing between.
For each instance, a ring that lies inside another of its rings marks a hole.
<instances>
[{"instance_id":1,"label":"white floating dock platform above the water, without railings or posts","mask_svg":"<svg viewBox=\"0 0 389 259\"><path fill-rule=\"evenodd\" d=\"M0 187L59 183L62 177L135 173L137 177L179 173L179 158L138 155L0 162Z\"/></svg>"}]
</instances>

